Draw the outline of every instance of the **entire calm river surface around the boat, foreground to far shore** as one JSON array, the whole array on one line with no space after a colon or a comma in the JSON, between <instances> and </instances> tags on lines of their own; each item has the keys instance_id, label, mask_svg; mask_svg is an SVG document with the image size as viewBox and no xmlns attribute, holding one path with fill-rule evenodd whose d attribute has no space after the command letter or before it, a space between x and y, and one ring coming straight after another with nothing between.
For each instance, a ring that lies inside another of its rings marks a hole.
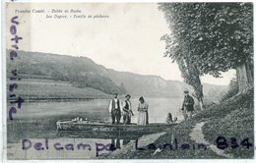
<instances>
[{"instance_id":1,"label":"entire calm river surface around the boat, foreground to far shore","mask_svg":"<svg viewBox=\"0 0 256 163\"><path fill-rule=\"evenodd\" d=\"M97 137L88 136L82 132L60 136L56 131L56 121L81 117L92 121L110 122L108 116L108 105L110 99L95 99L81 102L32 102L24 103L14 115L14 120L8 120L8 157L10 159L46 159L46 158L96 158L97 154L107 153L102 150L96 152L96 144L115 144L122 148L136 137L116 136ZM131 99L132 109L135 116L132 122L137 122L138 99ZM146 98L149 104L150 123L164 123L168 112L178 121L182 120L180 111L181 98ZM27 140L25 140L27 139ZM24 144L23 144L24 141ZM45 143L47 141L47 145ZM41 143L43 150L34 148L36 142ZM61 150L56 150L54 144L58 143ZM80 143L89 144L91 150L79 149ZM68 149L66 145L68 144ZM71 145L72 144L72 145ZM47 148L46 148L47 146ZM73 146L73 150L69 150ZM28 149L23 149L26 147Z\"/></svg>"}]
</instances>

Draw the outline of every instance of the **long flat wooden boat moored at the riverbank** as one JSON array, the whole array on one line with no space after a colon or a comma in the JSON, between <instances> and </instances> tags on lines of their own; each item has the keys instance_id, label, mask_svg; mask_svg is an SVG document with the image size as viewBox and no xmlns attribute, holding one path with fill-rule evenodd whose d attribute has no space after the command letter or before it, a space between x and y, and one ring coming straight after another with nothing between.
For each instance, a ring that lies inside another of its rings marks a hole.
<instances>
[{"instance_id":1,"label":"long flat wooden boat moored at the riverbank","mask_svg":"<svg viewBox=\"0 0 256 163\"><path fill-rule=\"evenodd\" d=\"M174 127L175 124L156 123L145 126L131 125L112 125L103 122L90 122L90 121L58 121L56 123L58 131L88 131L100 133L133 133L133 134L151 134L164 131L165 129Z\"/></svg>"}]
</instances>

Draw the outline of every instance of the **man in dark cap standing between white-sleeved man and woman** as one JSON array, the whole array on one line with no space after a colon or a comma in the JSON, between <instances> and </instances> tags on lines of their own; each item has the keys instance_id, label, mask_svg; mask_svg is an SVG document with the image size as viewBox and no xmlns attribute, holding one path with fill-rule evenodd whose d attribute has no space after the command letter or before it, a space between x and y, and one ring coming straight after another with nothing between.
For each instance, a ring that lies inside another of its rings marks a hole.
<instances>
[{"instance_id":1,"label":"man in dark cap standing between white-sleeved man and woman","mask_svg":"<svg viewBox=\"0 0 256 163\"><path fill-rule=\"evenodd\" d=\"M132 104L131 104L130 98L131 98L131 95L127 94L125 96L125 101L123 105L123 123L125 125L131 124L131 115L133 116Z\"/></svg>"}]
</instances>

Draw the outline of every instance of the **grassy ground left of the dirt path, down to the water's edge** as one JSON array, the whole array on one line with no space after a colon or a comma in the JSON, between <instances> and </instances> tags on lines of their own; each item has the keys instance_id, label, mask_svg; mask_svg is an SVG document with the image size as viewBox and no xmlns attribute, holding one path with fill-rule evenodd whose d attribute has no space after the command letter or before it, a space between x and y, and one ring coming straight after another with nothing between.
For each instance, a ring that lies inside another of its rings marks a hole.
<instances>
[{"instance_id":1,"label":"grassy ground left of the dirt path, down to the water's edge","mask_svg":"<svg viewBox=\"0 0 256 163\"><path fill-rule=\"evenodd\" d=\"M197 147L193 149L193 144L196 145L196 143L190 139L189 134L194 124L195 124L195 121L182 122L179 125L177 125L175 128L166 130L165 131L166 134L164 136L160 136L154 142L154 144L158 148L160 145L163 146L163 144L171 143L171 139L174 137L177 140L178 148L176 148L175 144L172 143L172 149L166 147L161 152L155 155L153 155L153 153L155 152L156 149L145 149L145 150L130 150L130 151L128 150L128 152L125 155L110 154L110 155L104 155L103 157L111 158L111 159L222 158L209 149L204 150L204 149L199 149ZM190 146L189 149L182 149L181 148L182 144L188 144Z\"/></svg>"}]
</instances>

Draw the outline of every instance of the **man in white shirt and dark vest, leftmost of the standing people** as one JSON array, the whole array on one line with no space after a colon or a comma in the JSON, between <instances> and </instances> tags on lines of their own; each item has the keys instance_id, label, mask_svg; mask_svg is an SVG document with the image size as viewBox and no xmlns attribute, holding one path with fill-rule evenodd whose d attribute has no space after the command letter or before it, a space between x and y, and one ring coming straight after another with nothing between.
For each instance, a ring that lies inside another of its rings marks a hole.
<instances>
[{"instance_id":1,"label":"man in white shirt and dark vest, leftmost of the standing people","mask_svg":"<svg viewBox=\"0 0 256 163\"><path fill-rule=\"evenodd\" d=\"M113 95L114 98L110 101L109 104L109 115L112 119L112 124L115 124L115 120L116 123L119 124L121 119L121 104L120 100L117 98L117 93L114 92Z\"/></svg>"}]
</instances>

